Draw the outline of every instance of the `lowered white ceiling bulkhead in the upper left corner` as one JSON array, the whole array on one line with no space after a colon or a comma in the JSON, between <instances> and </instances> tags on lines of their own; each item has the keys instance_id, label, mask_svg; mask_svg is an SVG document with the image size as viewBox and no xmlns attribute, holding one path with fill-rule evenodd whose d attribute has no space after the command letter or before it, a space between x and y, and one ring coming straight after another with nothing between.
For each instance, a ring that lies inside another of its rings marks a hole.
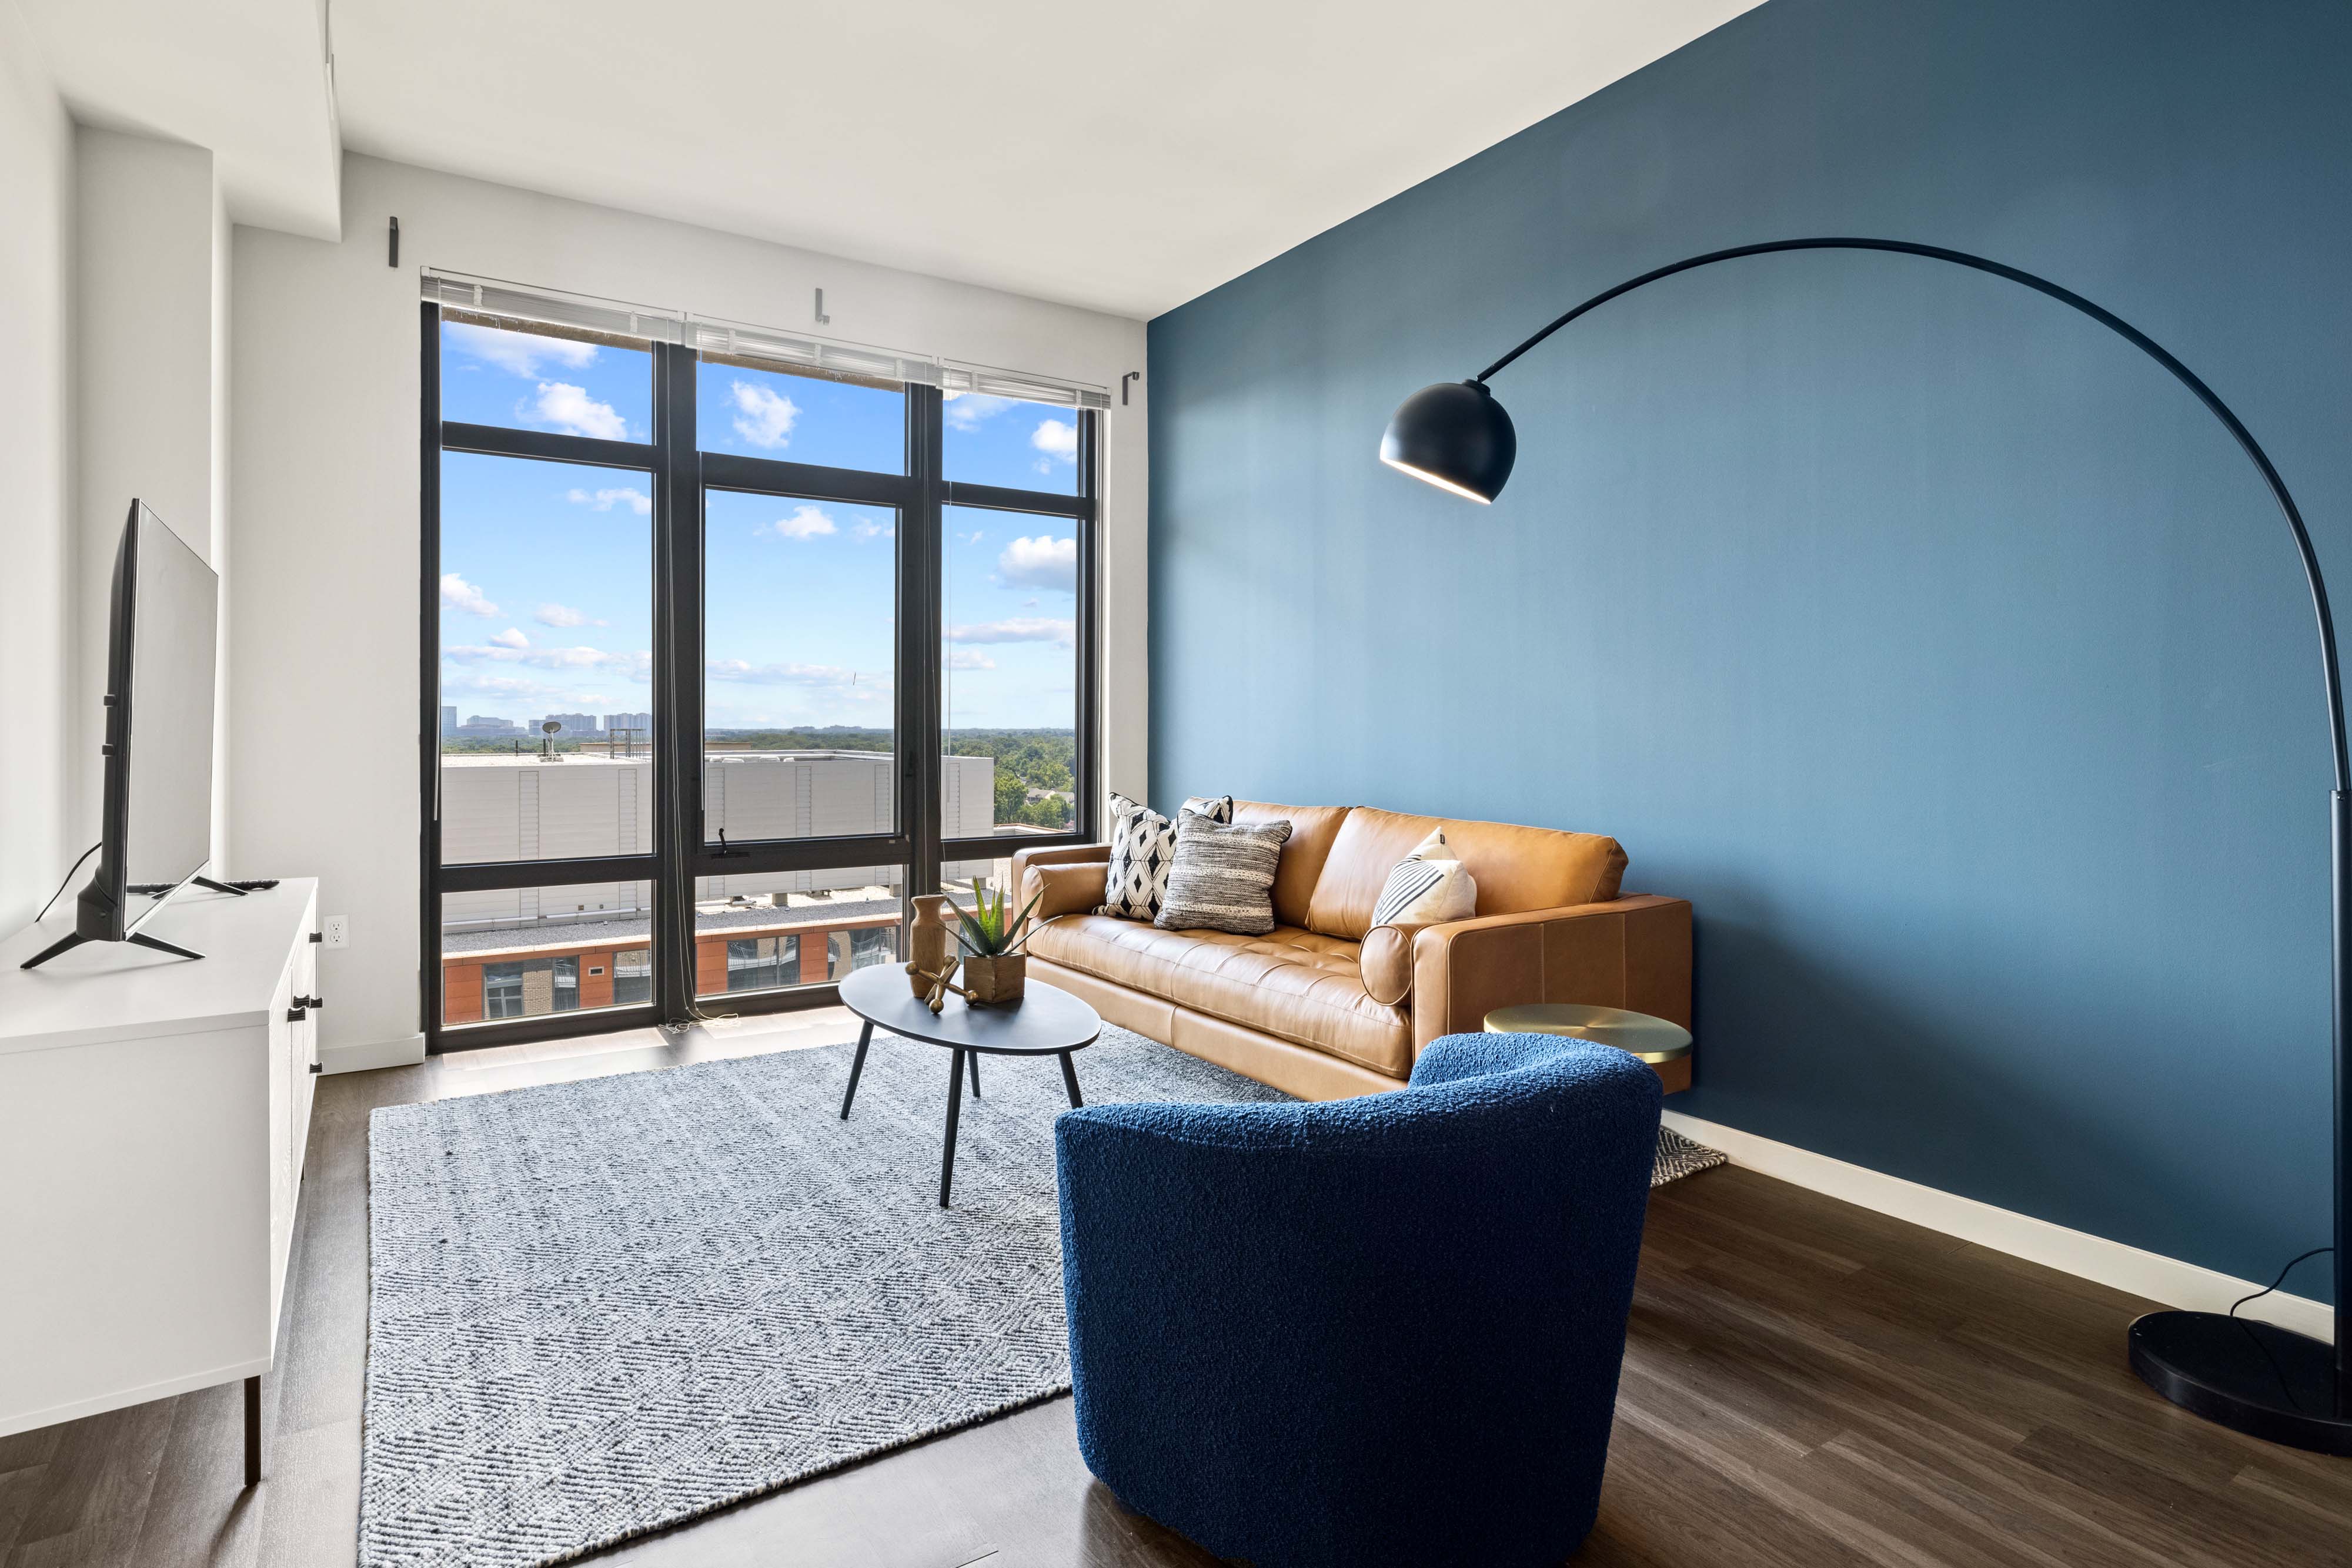
<instances>
[{"instance_id":1,"label":"lowered white ceiling bulkhead in the upper left corner","mask_svg":"<svg viewBox=\"0 0 2352 1568\"><path fill-rule=\"evenodd\" d=\"M16 0L82 125L212 148L228 216L332 240L343 155L320 0Z\"/></svg>"}]
</instances>

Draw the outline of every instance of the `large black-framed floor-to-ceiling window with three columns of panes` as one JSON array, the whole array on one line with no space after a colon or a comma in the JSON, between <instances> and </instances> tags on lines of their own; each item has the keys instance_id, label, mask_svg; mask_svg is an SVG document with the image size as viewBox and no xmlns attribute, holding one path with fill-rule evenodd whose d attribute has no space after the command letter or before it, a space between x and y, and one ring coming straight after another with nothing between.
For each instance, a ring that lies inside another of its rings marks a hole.
<instances>
[{"instance_id":1,"label":"large black-framed floor-to-ceiling window with three columns of panes","mask_svg":"<svg viewBox=\"0 0 2352 1568\"><path fill-rule=\"evenodd\" d=\"M430 277L423 360L433 1048L828 1001L1091 835L1098 395Z\"/></svg>"}]
</instances>

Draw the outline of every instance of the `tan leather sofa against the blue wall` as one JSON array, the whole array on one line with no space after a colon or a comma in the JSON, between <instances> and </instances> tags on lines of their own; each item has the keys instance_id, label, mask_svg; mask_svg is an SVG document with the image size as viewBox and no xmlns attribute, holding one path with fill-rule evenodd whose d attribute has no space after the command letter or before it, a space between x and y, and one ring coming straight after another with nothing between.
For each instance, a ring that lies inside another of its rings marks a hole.
<instances>
[{"instance_id":1,"label":"tan leather sofa against the blue wall","mask_svg":"<svg viewBox=\"0 0 2352 1568\"><path fill-rule=\"evenodd\" d=\"M1691 905L1618 893L1616 839L1402 816L1371 806L1235 802L1289 820L1275 931L1162 931L1094 914L1105 844L1014 856L1018 903L1040 896L1030 973L1110 1023L1305 1100L1399 1088L1439 1034L1517 1001L1597 1001L1691 1023ZM1432 827L1477 879L1477 914L1371 929L1388 872ZM1689 1086L1689 1058L1661 1072Z\"/></svg>"}]
</instances>

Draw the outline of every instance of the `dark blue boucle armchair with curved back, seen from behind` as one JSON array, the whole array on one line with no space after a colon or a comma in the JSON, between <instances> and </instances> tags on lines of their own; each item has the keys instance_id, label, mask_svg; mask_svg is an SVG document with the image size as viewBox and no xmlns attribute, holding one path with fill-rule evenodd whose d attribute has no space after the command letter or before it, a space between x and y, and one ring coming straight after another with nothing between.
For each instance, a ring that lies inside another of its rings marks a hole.
<instances>
[{"instance_id":1,"label":"dark blue boucle armchair with curved back, seen from behind","mask_svg":"<svg viewBox=\"0 0 2352 1568\"><path fill-rule=\"evenodd\" d=\"M1449 1034L1322 1105L1054 1124L1077 1446L1256 1568L1555 1568L1599 1509L1658 1077Z\"/></svg>"}]
</instances>

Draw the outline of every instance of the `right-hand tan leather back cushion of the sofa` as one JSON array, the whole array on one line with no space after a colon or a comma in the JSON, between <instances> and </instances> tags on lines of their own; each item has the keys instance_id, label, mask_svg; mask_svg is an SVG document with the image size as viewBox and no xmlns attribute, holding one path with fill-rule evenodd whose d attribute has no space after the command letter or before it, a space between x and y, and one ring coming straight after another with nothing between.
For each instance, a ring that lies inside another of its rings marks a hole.
<instances>
[{"instance_id":1,"label":"right-hand tan leather back cushion of the sofa","mask_svg":"<svg viewBox=\"0 0 2352 1568\"><path fill-rule=\"evenodd\" d=\"M1510 823L1468 823L1439 816L1404 816L1357 806L1341 823L1315 898L1308 903L1305 929L1319 936L1362 940L1371 929L1371 910L1388 886L1388 872L1414 853L1421 839L1444 830L1446 844L1477 879L1479 914L1524 914L1578 903L1606 903L1618 896L1625 875L1625 851L1597 832L1562 832L1557 827L1515 827Z\"/></svg>"}]
</instances>

